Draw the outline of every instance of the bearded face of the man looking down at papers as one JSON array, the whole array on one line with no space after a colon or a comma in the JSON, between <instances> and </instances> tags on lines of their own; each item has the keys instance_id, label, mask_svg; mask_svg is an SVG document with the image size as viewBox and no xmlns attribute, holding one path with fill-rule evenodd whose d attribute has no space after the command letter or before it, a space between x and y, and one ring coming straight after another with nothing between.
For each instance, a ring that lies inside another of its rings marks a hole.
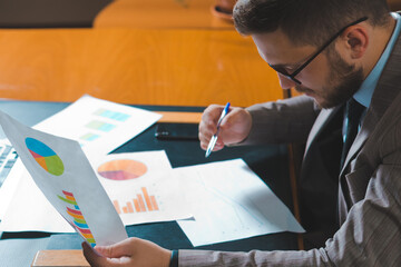
<instances>
[{"instance_id":1,"label":"bearded face of the man looking down at papers","mask_svg":"<svg viewBox=\"0 0 401 267\"><path fill-rule=\"evenodd\" d=\"M266 62L284 67L288 73L294 72L319 49L313 46L295 47L281 31L253 34L252 38ZM294 87L297 91L313 97L322 108L332 108L345 102L364 79L362 68L356 69L345 62L333 48L324 50L295 78L302 85L278 73L282 88Z\"/></svg>"}]
</instances>

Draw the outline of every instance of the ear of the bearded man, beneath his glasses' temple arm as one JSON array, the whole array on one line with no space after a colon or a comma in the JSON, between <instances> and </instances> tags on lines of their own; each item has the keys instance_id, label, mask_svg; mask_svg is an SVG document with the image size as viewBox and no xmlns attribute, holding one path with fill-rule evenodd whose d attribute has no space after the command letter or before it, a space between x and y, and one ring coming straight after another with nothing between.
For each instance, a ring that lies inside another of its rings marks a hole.
<instances>
[{"instance_id":1,"label":"ear of the bearded man, beneath his glasses' temple arm","mask_svg":"<svg viewBox=\"0 0 401 267\"><path fill-rule=\"evenodd\" d=\"M352 26L348 28L341 39L344 41L344 48L349 52L351 59L361 58L369 44L369 34L365 28L361 26Z\"/></svg>"}]
</instances>

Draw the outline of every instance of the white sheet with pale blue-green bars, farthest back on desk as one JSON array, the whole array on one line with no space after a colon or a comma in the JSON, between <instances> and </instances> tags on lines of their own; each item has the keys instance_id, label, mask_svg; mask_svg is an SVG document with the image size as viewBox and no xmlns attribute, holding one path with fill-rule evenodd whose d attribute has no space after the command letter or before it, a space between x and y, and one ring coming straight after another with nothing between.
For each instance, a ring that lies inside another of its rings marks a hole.
<instances>
[{"instance_id":1,"label":"white sheet with pale blue-green bars, farthest back on desk","mask_svg":"<svg viewBox=\"0 0 401 267\"><path fill-rule=\"evenodd\" d=\"M84 96L35 129L77 140L85 152L106 155L155 123L162 115Z\"/></svg>"}]
</instances>

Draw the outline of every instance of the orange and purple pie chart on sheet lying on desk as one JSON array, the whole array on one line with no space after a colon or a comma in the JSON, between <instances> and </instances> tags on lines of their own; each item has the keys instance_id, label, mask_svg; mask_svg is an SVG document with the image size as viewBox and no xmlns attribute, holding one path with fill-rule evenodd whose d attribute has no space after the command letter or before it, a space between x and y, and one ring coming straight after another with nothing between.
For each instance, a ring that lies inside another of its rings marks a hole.
<instances>
[{"instance_id":1,"label":"orange and purple pie chart on sheet lying on desk","mask_svg":"<svg viewBox=\"0 0 401 267\"><path fill-rule=\"evenodd\" d=\"M98 174L110 180L129 180L145 175L145 164L133 159L116 159L107 161L98 168Z\"/></svg>"}]
</instances>

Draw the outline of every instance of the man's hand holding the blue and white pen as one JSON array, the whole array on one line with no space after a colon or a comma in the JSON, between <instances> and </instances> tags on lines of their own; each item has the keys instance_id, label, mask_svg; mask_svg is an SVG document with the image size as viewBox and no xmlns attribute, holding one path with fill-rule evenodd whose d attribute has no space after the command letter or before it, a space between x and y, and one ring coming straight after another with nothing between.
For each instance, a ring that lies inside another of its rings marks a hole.
<instances>
[{"instance_id":1,"label":"man's hand holding the blue and white pen","mask_svg":"<svg viewBox=\"0 0 401 267\"><path fill-rule=\"evenodd\" d=\"M213 135L217 131L217 121L222 115L224 106L211 105L202 115L199 123L200 147L206 150ZM218 132L218 138L213 151L224 148L225 145L237 144L244 140L252 127L251 113L243 109L232 107L227 116L223 119Z\"/></svg>"}]
</instances>

